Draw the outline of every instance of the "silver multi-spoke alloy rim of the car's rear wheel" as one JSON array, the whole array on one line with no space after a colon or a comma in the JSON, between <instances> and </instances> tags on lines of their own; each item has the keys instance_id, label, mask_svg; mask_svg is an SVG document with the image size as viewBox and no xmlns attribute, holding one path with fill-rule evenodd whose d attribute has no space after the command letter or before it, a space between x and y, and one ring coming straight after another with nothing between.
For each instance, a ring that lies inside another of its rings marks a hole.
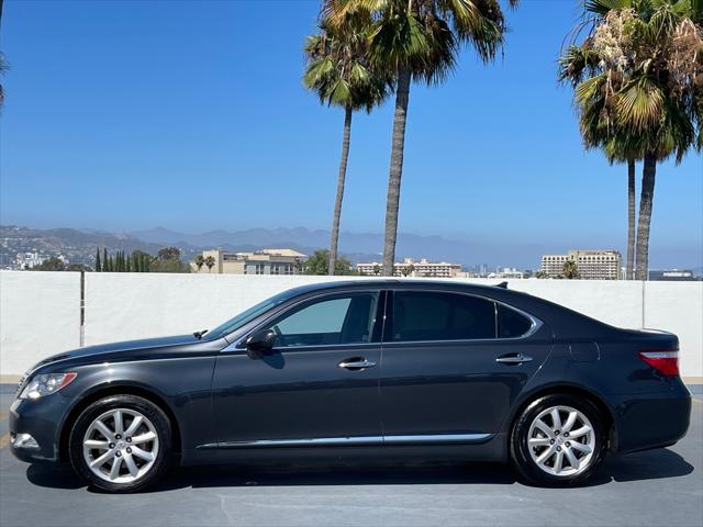
<instances>
[{"instance_id":1,"label":"silver multi-spoke alloy rim of the car's rear wheel","mask_svg":"<svg viewBox=\"0 0 703 527\"><path fill-rule=\"evenodd\" d=\"M529 426L527 448L535 464L550 475L577 475L595 452L595 430L589 418L570 406L553 406Z\"/></svg>"}]
</instances>

